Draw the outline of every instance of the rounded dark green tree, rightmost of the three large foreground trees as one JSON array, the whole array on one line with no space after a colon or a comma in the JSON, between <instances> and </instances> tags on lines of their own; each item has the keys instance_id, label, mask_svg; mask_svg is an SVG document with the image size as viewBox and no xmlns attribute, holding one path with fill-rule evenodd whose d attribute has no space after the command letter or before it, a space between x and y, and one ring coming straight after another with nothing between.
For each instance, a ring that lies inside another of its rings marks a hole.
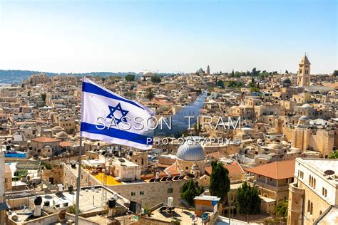
<instances>
[{"instance_id":1,"label":"rounded dark green tree, rightmost of the three large foreground trees","mask_svg":"<svg viewBox=\"0 0 338 225\"><path fill-rule=\"evenodd\" d=\"M260 196L256 187L251 187L250 184L244 182L240 188L237 189L237 196L235 205L240 214L258 214L260 213Z\"/></svg>"}]
</instances>

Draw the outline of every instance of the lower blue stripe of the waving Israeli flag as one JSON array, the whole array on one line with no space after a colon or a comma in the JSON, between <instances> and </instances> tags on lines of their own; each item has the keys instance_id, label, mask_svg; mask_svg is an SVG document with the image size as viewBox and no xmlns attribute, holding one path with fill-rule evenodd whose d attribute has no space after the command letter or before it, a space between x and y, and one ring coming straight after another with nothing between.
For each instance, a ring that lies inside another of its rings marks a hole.
<instances>
[{"instance_id":1,"label":"lower blue stripe of the waving Israeli flag","mask_svg":"<svg viewBox=\"0 0 338 225\"><path fill-rule=\"evenodd\" d=\"M100 125L98 125L98 127L100 127ZM103 130L98 130L98 128L96 128L96 125L93 125L87 122L81 122L81 131L90 132L90 133L98 134L98 135L106 135L109 137L128 140L130 142L140 143L143 145L153 145L152 137L138 135L133 132L128 132L126 130L118 130L113 127L110 127L109 129L105 128ZM148 143L147 143L147 138L151 138L151 141L149 141Z\"/></svg>"}]
</instances>

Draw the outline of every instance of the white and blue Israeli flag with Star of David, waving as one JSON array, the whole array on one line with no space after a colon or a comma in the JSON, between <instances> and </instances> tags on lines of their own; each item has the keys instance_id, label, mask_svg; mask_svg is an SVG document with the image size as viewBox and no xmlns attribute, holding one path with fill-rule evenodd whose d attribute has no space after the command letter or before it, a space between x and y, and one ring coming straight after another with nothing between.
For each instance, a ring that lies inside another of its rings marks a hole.
<instances>
[{"instance_id":1,"label":"white and blue Israeli flag with Star of David, waving","mask_svg":"<svg viewBox=\"0 0 338 225\"><path fill-rule=\"evenodd\" d=\"M81 137L150 150L154 115L140 103L83 78Z\"/></svg>"}]
</instances>

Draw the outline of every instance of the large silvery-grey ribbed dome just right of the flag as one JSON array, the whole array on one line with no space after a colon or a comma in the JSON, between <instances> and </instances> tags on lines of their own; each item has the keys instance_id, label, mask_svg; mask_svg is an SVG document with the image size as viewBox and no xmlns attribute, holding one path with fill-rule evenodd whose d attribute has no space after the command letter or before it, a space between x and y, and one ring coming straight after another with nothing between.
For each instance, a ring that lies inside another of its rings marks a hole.
<instances>
[{"instance_id":1,"label":"large silvery-grey ribbed dome just right of the flag","mask_svg":"<svg viewBox=\"0 0 338 225\"><path fill-rule=\"evenodd\" d=\"M193 140L185 140L183 145L178 147L176 158L183 161L201 161L205 159L203 147Z\"/></svg>"}]
</instances>

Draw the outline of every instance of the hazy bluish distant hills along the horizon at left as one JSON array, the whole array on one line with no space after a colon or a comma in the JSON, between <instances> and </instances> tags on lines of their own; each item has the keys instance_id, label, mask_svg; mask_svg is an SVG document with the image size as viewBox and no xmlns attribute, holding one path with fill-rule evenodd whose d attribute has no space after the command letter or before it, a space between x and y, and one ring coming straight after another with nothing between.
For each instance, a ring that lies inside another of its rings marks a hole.
<instances>
[{"instance_id":1,"label":"hazy bluish distant hills along the horizon at left","mask_svg":"<svg viewBox=\"0 0 338 225\"><path fill-rule=\"evenodd\" d=\"M112 73L112 72L91 72L91 73L49 73L41 71L31 71L31 70L0 70L0 85L1 84L18 84L22 83L23 80L29 78L29 76L37 73L46 73L48 76L53 75L99 75L99 76L125 76L127 74L140 75L140 73L127 72L127 73ZM170 75L170 73L159 73L159 75Z\"/></svg>"}]
</instances>

